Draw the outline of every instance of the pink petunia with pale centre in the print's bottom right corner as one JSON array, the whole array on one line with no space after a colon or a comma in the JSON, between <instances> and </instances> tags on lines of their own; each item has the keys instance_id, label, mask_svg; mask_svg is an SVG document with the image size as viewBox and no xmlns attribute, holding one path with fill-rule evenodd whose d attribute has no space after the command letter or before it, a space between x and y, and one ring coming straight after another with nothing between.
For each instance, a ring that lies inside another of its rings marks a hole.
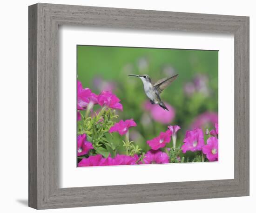
<instances>
[{"instance_id":1,"label":"pink petunia with pale centre in the print's bottom right corner","mask_svg":"<svg viewBox=\"0 0 256 213\"><path fill-rule=\"evenodd\" d=\"M209 161L218 160L218 139L216 137L209 137L207 145L202 147L202 152L206 154Z\"/></svg>"}]
</instances>

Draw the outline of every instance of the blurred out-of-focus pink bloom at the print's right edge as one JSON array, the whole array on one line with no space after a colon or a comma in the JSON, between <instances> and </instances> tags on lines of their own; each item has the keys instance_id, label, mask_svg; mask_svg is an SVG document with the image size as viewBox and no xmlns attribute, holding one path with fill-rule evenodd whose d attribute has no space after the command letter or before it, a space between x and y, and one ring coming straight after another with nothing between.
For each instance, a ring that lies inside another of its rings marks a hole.
<instances>
[{"instance_id":1,"label":"blurred out-of-focus pink bloom at the print's right edge","mask_svg":"<svg viewBox=\"0 0 256 213\"><path fill-rule=\"evenodd\" d=\"M218 113L215 112L204 112L195 118L191 125L192 129L202 128L206 126L213 126L218 123Z\"/></svg>"}]
</instances>

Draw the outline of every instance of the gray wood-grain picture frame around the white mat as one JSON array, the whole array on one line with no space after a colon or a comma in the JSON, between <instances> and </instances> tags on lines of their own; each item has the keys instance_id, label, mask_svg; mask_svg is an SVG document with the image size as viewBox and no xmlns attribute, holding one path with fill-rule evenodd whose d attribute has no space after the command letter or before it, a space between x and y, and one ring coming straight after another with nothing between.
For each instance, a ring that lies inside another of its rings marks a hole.
<instances>
[{"instance_id":1,"label":"gray wood-grain picture frame around the white mat","mask_svg":"<svg viewBox=\"0 0 256 213\"><path fill-rule=\"evenodd\" d=\"M29 6L28 18L30 207L49 209L249 195L249 17L39 3ZM233 34L235 178L60 188L60 25Z\"/></svg>"}]
</instances>

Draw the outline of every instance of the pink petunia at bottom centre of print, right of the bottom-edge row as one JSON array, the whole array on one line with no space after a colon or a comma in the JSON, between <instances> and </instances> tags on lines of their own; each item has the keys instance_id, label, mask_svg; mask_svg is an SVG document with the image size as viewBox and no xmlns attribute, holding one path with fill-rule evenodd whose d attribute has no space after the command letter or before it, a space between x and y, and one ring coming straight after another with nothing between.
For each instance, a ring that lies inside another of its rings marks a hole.
<instances>
[{"instance_id":1,"label":"pink petunia at bottom centre of print, right of the bottom-edge row","mask_svg":"<svg viewBox=\"0 0 256 213\"><path fill-rule=\"evenodd\" d=\"M167 153L163 153L160 150L149 150L143 159L145 164L151 163L169 163L169 156Z\"/></svg>"}]
</instances>

